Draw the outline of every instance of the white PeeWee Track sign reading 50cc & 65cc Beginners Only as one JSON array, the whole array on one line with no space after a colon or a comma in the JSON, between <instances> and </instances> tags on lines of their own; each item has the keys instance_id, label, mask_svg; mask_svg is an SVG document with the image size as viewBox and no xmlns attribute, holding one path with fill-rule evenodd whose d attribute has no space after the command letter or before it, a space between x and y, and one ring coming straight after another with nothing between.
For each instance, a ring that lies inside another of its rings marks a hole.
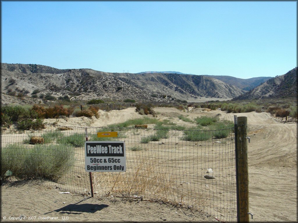
<instances>
[{"instance_id":1,"label":"white PeeWee Track sign reading 50cc & 65cc Beginners Only","mask_svg":"<svg viewBox=\"0 0 298 223\"><path fill-rule=\"evenodd\" d=\"M86 141L86 172L125 172L124 141Z\"/></svg>"}]
</instances>

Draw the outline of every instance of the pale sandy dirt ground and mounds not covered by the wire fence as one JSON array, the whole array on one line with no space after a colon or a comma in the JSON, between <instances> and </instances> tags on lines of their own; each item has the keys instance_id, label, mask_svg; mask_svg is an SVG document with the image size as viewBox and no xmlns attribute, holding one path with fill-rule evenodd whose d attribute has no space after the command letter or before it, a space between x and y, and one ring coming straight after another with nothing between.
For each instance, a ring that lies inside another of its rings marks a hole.
<instances>
[{"instance_id":1,"label":"pale sandy dirt ground and mounds not covered by the wire fence","mask_svg":"<svg viewBox=\"0 0 298 223\"><path fill-rule=\"evenodd\" d=\"M254 214L250 222L297 222L297 123L284 123L265 112L228 114L208 109L182 112L175 108L155 108L155 111L158 119L170 118L179 125L187 124L178 119L179 115L216 116L231 121L234 115L248 117L249 212ZM101 127L138 117L142 116L135 113L134 108L128 108L100 111L99 119L75 117L46 122ZM54 186L30 181L5 183L1 186L1 222L14 222L11 218L20 216L25 216L22 221L27 222L217 222L212 216L162 203L129 202L121 198L99 200L59 192ZM44 219L50 217L58 219Z\"/></svg>"}]
</instances>

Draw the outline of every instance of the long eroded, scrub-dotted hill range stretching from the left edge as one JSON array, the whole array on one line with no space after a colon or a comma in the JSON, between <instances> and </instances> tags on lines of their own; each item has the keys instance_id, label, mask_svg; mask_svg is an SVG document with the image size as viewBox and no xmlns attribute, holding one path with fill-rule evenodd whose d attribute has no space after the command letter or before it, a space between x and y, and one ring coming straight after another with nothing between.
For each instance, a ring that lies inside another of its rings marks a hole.
<instances>
[{"instance_id":1,"label":"long eroded, scrub-dotted hill range stretching from the left edge","mask_svg":"<svg viewBox=\"0 0 298 223\"><path fill-rule=\"evenodd\" d=\"M245 91L217 79L197 75L108 73L92 69L1 63L1 99L18 95L21 98L23 95L31 100L34 92L37 92L33 94L37 99L40 94L51 94L55 97L69 95L72 100L129 98L170 102L196 101L199 97L231 99Z\"/></svg>"}]
</instances>

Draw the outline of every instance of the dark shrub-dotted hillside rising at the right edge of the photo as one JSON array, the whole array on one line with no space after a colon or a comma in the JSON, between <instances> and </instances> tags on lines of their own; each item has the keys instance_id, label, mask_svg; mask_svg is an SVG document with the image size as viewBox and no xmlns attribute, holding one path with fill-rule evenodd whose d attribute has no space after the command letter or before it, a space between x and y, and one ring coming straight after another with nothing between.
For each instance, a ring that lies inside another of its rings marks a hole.
<instances>
[{"instance_id":1,"label":"dark shrub-dotted hillside rising at the right edge of the photo","mask_svg":"<svg viewBox=\"0 0 298 223\"><path fill-rule=\"evenodd\" d=\"M284 75L269 79L249 92L233 98L233 100L291 97L297 98L297 67Z\"/></svg>"}]
</instances>

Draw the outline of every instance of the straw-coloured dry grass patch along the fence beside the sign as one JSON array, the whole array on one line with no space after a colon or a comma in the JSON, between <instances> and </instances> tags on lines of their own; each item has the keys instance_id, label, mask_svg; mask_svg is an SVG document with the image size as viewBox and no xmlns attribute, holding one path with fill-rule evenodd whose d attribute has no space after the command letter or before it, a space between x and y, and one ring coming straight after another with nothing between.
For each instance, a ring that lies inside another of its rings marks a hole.
<instances>
[{"instance_id":1,"label":"straw-coloured dry grass patch along the fence beside the sign","mask_svg":"<svg viewBox=\"0 0 298 223\"><path fill-rule=\"evenodd\" d=\"M133 163L134 167L126 172L95 172L94 190L103 196L159 202L181 208L193 209L206 205L206 200L200 195L190 195L192 190L187 194L179 192L177 180L170 177L169 167L159 172L159 164L154 158L135 160Z\"/></svg>"}]
</instances>

